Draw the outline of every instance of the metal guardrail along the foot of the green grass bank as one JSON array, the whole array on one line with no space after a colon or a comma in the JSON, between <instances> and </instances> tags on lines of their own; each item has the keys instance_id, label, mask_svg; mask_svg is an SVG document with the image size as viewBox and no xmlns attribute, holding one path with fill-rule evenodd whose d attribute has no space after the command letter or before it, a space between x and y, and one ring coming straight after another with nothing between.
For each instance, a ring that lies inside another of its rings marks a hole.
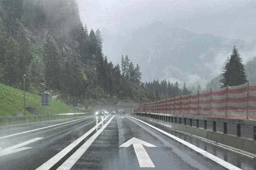
<instances>
[{"instance_id":1,"label":"metal guardrail along the foot of the green grass bank","mask_svg":"<svg viewBox=\"0 0 256 170\"><path fill-rule=\"evenodd\" d=\"M78 117L78 116L85 116L90 115L92 113L66 113L66 114L44 114L44 115L26 115L26 116L4 116L0 117L0 123L2 120L9 120L9 124L11 124L11 120L23 120L26 121L29 119L29 122L31 122L31 119L34 118L34 121L36 121L36 118L44 118L43 120L54 120L54 119L63 119L63 118L72 118L72 117Z\"/></svg>"}]
</instances>

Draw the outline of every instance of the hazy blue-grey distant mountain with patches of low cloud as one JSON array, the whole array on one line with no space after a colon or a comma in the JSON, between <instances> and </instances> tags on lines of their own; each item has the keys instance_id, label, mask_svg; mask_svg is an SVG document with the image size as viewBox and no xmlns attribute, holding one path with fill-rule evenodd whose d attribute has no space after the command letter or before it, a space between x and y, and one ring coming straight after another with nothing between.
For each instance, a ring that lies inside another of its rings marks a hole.
<instances>
[{"instance_id":1,"label":"hazy blue-grey distant mountain with patches of low cloud","mask_svg":"<svg viewBox=\"0 0 256 170\"><path fill-rule=\"evenodd\" d=\"M234 45L243 40L197 34L155 22L127 36L104 35L103 52L114 63L128 55L141 66L142 81L167 79L189 86L206 84L219 75Z\"/></svg>"}]
</instances>

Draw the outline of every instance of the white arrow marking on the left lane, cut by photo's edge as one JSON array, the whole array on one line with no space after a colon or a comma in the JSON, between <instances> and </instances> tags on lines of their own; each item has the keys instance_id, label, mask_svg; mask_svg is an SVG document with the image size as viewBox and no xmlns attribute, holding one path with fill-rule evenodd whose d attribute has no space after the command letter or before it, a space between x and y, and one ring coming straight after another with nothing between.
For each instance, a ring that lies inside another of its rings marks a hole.
<instances>
[{"instance_id":1,"label":"white arrow marking on the left lane, cut by photo's edge","mask_svg":"<svg viewBox=\"0 0 256 170\"><path fill-rule=\"evenodd\" d=\"M3 150L2 150L2 148L0 148L0 156L9 155L11 153L15 153L15 152L19 152L19 151L24 151L24 150L30 149L32 147L22 147L22 146L25 146L25 145L30 144L32 142L38 141L40 139L43 139L43 138L31 139L29 141L16 144L14 146L11 146L9 148L5 148ZM19 148L19 147L22 147L22 148Z\"/></svg>"}]
</instances>

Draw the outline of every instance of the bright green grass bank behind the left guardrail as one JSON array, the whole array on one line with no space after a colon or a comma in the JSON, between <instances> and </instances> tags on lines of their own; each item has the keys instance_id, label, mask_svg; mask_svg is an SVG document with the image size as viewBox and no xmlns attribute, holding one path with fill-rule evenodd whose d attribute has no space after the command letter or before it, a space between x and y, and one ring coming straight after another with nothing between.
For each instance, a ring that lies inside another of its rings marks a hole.
<instances>
[{"instance_id":1,"label":"bright green grass bank behind the left guardrail","mask_svg":"<svg viewBox=\"0 0 256 170\"><path fill-rule=\"evenodd\" d=\"M84 112L61 101L49 98L49 106L41 106L41 96L26 92L26 106L36 107L36 114L59 114ZM0 116L14 116L23 113L23 91L0 84ZM26 111L26 115L31 115Z\"/></svg>"}]
</instances>

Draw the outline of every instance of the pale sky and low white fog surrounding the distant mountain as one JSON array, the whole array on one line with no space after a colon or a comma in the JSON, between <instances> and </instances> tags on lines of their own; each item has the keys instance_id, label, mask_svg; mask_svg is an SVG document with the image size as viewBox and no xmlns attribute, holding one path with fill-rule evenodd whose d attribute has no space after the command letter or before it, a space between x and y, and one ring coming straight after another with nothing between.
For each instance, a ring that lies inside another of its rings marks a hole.
<instances>
[{"instance_id":1,"label":"pale sky and low white fog surrounding the distant mountain","mask_svg":"<svg viewBox=\"0 0 256 170\"><path fill-rule=\"evenodd\" d=\"M251 42L256 40L256 1L253 0L78 0L78 4L82 22L86 23L89 29L99 28L102 31L105 41L103 52L114 64L120 62L122 54L134 54L128 51L128 47L125 50L113 52L119 47L115 47L110 39L122 41L122 38L127 38L138 29L156 21L162 22L169 28L184 28L198 35L211 34L226 38L227 41L244 40L246 45L251 45ZM106 44L110 42L112 46ZM232 42L229 45L236 44ZM255 56L255 48L252 45L249 49L244 46L238 45L238 49L241 49L240 54L246 63ZM203 60L204 55L211 53L212 49L215 47L200 54L198 60ZM143 81L166 78L182 84L186 82L189 86L200 83L204 87L207 81L221 73L221 66L231 54L231 50L215 51L212 61L206 58L203 64L200 63L206 69L202 72L206 71L208 75L197 71L190 73L182 69L182 66L175 64L163 68L163 74L152 77L150 76L152 73L145 74L148 70L142 66L144 63L140 60L137 62L142 67ZM139 56L130 57L138 59ZM195 65L197 64L195 62Z\"/></svg>"}]
</instances>

